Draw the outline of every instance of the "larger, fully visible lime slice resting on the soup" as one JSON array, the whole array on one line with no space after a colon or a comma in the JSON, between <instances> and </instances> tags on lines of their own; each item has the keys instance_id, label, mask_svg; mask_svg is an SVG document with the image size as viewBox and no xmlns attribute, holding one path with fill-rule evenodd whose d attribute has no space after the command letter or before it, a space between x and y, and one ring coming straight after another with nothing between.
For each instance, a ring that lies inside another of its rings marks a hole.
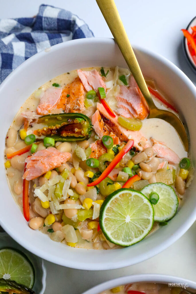
<instances>
[{"instance_id":1,"label":"larger, fully visible lime slice resting on the soup","mask_svg":"<svg viewBox=\"0 0 196 294\"><path fill-rule=\"evenodd\" d=\"M110 194L100 209L99 223L112 243L130 246L150 232L154 222L153 206L142 193L122 188Z\"/></svg>"}]
</instances>

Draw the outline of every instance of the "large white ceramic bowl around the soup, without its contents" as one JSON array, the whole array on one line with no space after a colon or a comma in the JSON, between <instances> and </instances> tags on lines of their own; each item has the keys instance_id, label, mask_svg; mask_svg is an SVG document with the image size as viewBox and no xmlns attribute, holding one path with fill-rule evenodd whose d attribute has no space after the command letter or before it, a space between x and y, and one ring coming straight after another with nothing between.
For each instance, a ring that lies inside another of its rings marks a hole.
<instances>
[{"instance_id":1,"label":"large white ceramic bowl around the soup, without its contents","mask_svg":"<svg viewBox=\"0 0 196 294\"><path fill-rule=\"evenodd\" d=\"M172 98L186 117L192 146L195 145L196 88L167 59L135 48L145 76L155 78L159 88ZM140 243L120 250L86 250L51 241L38 230L33 231L11 196L4 171L6 132L20 106L39 86L64 72L90 66L122 66L126 63L113 39L79 39L61 43L26 60L0 86L1 168L0 225L27 250L59 265L84 270L121 268L148 259L175 242L196 219L196 182L187 191L183 207L169 225L147 236ZM195 161L196 148L192 150Z\"/></svg>"}]
</instances>

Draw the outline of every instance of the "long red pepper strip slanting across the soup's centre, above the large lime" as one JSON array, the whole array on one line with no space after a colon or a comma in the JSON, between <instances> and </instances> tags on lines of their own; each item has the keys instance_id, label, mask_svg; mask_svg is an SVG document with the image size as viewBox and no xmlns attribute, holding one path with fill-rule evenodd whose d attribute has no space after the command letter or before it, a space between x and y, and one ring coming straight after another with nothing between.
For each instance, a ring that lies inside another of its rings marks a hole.
<instances>
[{"instance_id":1,"label":"long red pepper strip slanting across the soup's centre, above the large lime","mask_svg":"<svg viewBox=\"0 0 196 294\"><path fill-rule=\"evenodd\" d=\"M123 158L123 156L131 149L134 141L129 140L127 144L120 150L120 152L115 156L113 161L108 165L108 167L103 171L103 173L96 179L94 182L89 183L87 187L92 187L98 185L101 181L103 181L109 173L115 168L115 166L119 163L119 161Z\"/></svg>"}]
</instances>

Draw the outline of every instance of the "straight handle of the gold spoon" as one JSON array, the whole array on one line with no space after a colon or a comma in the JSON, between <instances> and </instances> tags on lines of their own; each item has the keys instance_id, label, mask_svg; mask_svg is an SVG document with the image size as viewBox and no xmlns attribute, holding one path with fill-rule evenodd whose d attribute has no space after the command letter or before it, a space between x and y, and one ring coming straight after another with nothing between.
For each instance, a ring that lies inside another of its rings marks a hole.
<instances>
[{"instance_id":1,"label":"straight handle of the gold spoon","mask_svg":"<svg viewBox=\"0 0 196 294\"><path fill-rule=\"evenodd\" d=\"M114 0L96 0L97 4L102 12L105 21L107 22L113 37L120 48L121 53L124 56L130 71L132 72L136 83L138 84L143 96L145 97L146 102L150 110L155 108L155 104L153 99L148 91L148 87L146 85L145 79L141 72L138 61L135 57L135 53L133 52L133 48L129 42L127 33L123 26L123 22L118 13L117 7L115 5Z\"/></svg>"}]
</instances>

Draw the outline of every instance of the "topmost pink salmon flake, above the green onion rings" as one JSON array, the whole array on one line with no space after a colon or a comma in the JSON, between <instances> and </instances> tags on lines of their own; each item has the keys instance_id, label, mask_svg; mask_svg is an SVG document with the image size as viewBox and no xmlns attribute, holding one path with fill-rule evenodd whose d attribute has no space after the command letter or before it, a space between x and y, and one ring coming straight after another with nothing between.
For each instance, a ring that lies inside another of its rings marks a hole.
<instances>
[{"instance_id":1,"label":"topmost pink salmon flake, above the green onion rings","mask_svg":"<svg viewBox=\"0 0 196 294\"><path fill-rule=\"evenodd\" d=\"M106 90L103 78L96 69L93 69L92 71L82 71L81 69L78 69L77 73L87 92L91 90L95 90L97 92L99 87Z\"/></svg>"}]
</instances>

